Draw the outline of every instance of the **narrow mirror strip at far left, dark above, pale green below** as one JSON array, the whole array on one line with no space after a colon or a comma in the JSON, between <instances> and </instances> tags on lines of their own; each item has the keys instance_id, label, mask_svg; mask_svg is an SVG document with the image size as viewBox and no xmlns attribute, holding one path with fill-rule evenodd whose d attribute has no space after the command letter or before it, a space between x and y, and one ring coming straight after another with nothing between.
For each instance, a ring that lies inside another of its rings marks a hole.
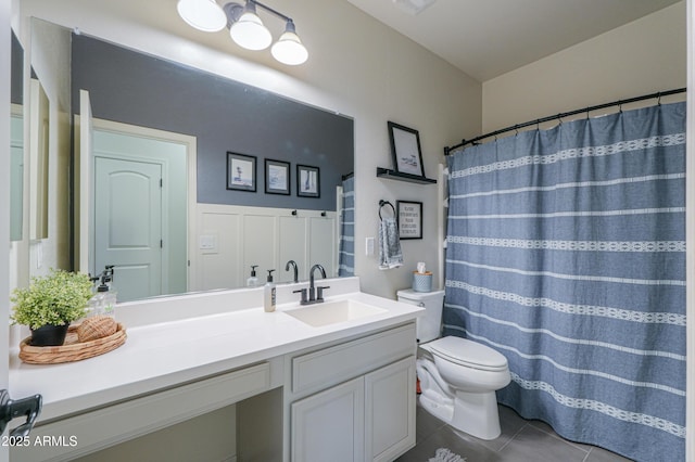
<instances>
[{"instance_id":1,"label":"narrow mirror strip at far left, dark above, pale green below","mask_svg":"<svg viewBox=\"0 0 695 462\"><path fill-rule=\"evenodd\" d=\"M10 76L10 238L22 240L24 201L24 50L12 31L12 64Z\"/></svg>"}]
</instances>

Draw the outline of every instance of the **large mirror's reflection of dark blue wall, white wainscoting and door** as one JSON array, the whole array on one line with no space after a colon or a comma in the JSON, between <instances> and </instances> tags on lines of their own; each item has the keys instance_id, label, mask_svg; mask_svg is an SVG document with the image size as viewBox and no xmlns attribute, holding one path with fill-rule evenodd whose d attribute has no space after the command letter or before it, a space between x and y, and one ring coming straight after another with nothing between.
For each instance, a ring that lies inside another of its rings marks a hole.
<instances>
[{"instance_id":1,"label":"large mirror's reflection of dark blue wall, white wainscoting and door","mask_svg":"<svg viewBox=\"0 0 695 462\"><path fill-rule=\"evenodd\" d=\"M268 270L275 270L276 282L288 282L293 279L285 271L290 259L299 264L300 280L308 279L314 264L321 264L329 277L352 273L348 252L339 253L340 242L352 241L353 232L352 222L340 222L343 176L354 168L350 117L84 34L72 35L71 56L75 124L86 125L81 90L93 114L91 149L74 153L75 165L88 155L92 167L89 179L74 175L73 229L84 220L78 213L81 181L93 188L93 205L85 215L87 267L99 273L116 265L119 301L243 286L252 265L258 266L262 284ZM153 140L182 146L181 154L173 154L180 151L174 149L156 159L153 149L137 147ZM228 188L228 152L255 158L254 192ZM175 161L179 155L182 163ZM266 192L265 159L289 164L289 194ZM315 196L298 194L300 164L320 176ZM178 178L166 171L175 165L182 165ZM156 171L140 171L144 167ZM182 205L173 205L181 196ZM135 204L160 211L136 210ZM146 222L159 232L142 232L138 226ZM72 240L75 268L80 238ZM136 247L147 249L142 254L149 253L149 260L121 252Z\"/></svg>"}]
</instances>

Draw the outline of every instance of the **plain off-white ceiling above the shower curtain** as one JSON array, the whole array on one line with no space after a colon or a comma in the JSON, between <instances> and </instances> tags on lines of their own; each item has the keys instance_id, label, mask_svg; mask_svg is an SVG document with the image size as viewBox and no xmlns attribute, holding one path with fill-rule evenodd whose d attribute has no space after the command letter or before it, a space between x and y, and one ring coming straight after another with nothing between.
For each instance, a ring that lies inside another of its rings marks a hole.
<instances>
[{"instance_id":1,"label":"plain off-white ceiling above the shower curtain","mask_svg":"<svg viewBox=\"0 0 695 462\"><path fill-rule=\"evenodd\" d=\"M485 81L680 0L435 0L417 15L396 0L348 1Z\"/></svg>"}]
</instances>

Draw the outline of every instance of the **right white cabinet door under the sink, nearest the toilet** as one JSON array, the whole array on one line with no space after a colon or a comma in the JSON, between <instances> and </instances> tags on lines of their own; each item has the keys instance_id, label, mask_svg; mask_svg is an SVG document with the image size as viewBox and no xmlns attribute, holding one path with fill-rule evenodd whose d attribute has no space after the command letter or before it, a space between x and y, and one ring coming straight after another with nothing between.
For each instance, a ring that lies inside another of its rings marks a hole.
<instances>
[{"instance_id":1,"label":"right white cabinet door under the sink, nearest the toilet","mask_svg":"<svg viewBox=\"0 0 695 462\"><path fill-rule=\"evenodd\" d=\"M415 357L365 375L368 461L392 461L415 446Z\"/></svg>"}]
</instances>

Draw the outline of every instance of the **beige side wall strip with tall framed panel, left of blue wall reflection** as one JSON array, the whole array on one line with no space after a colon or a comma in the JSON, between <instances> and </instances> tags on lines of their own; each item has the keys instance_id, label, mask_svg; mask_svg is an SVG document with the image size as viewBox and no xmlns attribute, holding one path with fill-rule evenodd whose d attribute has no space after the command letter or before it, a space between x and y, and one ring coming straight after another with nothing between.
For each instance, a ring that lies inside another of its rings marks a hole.
<instances>
[{"instance_id":1,"label":"beige side wall strip with tall framed panel, left of blue wall reflection","mask_svg":"<svg viewBox=\"0 0 695 462\"><path fill-rule=\"evenodd\" d=\"M30 47L26 53L30 72L24 73L28 95L24 104L28 132L25 170L29 175L25 177L28 200L24 201L24 214L25 239L29 238L26 266L33 277L46 274L51 268L73 269L68 190L71 33L34 17L29 30Z\"/></svg>"}]
</instances>

